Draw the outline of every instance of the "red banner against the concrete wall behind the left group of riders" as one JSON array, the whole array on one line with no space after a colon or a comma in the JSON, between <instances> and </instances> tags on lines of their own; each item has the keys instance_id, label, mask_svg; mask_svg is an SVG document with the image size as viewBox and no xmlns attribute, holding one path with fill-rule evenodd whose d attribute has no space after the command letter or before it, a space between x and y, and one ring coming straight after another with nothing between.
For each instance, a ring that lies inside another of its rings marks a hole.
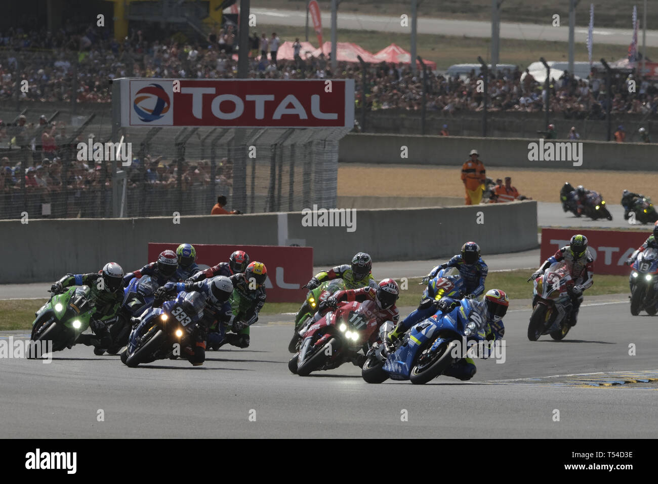
<instances>
[{"instance_id":1,"label":"red banner against the concrete wall behind the left group of riders","mask_svg":"<svg viewBox=\"0 0 658 484\"><path fill-rule=\"evenodd\" d=\"M173 250L179 244L149 242L149 261L157 260L163 250ZM301 288L313 277L313 248L288 246L229 246L193 244L197 251L197 265L207 269L228 257L236 250L249 254L251 261L259 261L267 268L265 288L268 302L301 302L307 290Z\"/></svg>"}]
</instances>

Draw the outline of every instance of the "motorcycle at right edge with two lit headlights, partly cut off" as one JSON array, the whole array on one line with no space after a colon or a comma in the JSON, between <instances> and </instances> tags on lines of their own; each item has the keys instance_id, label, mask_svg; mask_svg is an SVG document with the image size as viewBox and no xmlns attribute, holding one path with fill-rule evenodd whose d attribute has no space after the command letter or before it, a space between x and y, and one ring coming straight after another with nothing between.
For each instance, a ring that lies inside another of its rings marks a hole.
<instances>
[{"instance_id":1,"label":"motorcycle at right edge with two lit headlights, partly cut off","mask_svg":"<svg viewBox=\"0 0 658 484\"><path fill-rule=\"evenodd\" d=\"M630 267L630 313L637 316L644 310L653 316L658 309L658 250L640 252Z\"/></svg>"}]
</instances>

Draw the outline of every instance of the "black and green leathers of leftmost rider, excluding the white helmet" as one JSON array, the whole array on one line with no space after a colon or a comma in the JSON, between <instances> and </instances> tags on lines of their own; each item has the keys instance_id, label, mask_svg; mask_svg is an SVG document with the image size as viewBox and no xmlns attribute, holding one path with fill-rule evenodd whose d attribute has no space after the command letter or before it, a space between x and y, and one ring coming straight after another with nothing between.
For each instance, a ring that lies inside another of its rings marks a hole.
<instances>
[{"instance_id":1,"label":"black and green leathers of leftmost rider, excluding the white helmet","mask_svg":"<svg viewBox=\"0 0 658 484\"><path fill-rule=\"evenodd\" d=\"M53 284L52 290L63 292L63 288L70 286L89 286L89 299L93 302L96 310L89 321L89 327L94 335L80 335L78 342L86 346L98 346L107 348L112 340L107 325L116 319L116 313L121 308L124 298L124 287L121 286L114 292L106 290L101 284L103 277L100 273L67 274Z\"/></svg>"}]
</instances>

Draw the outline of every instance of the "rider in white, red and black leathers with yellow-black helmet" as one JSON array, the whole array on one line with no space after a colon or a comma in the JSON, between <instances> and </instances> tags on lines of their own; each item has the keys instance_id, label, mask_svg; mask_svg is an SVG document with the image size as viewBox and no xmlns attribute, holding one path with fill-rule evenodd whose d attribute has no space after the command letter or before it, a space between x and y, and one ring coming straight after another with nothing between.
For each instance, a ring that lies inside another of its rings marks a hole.
<instances>
[{"instance_id":1,"label":"rider in white, red and black leathers with yellow-black helmet","mask_svg":"<svg viewBox=\"0 0 658 484\"><path fill-rule=\"evenodd\" d=\"M569 325L572 327L578 322L578 310L583 300L582 293L594 284L594 280L592 279L594 277L594 257L588 252L587 244L588 240L586 236L581 234L572 236L568 246L564 246L546 259L542 266L528 279L528 282L534 281L534 279L543 275L544 271L555 262L565 261L567 263L571 279L574 282L574 285L569 291L571 304L573 305L569 316ZM534 301L532 305L534 306Z\"/></svg>"}]
</instances>

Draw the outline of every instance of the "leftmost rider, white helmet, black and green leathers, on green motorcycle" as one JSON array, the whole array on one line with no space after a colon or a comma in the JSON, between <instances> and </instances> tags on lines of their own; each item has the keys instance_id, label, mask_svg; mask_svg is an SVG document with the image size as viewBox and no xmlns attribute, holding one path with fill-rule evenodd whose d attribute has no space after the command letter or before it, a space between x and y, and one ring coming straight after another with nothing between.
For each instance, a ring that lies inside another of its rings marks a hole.
<instances>
[{"instance_id":1,"label":"leftmost rider, white helmet, black and green leathers, on green motorcycle","mask_svg":"<svg viewBox=\"0 0 658 484\"><path fill-rule=\"evenodd\" d=\"M116 262L108 262L97 273L66 274L51 286L54 294L61 294L70 286L89 286L89 299L96 311L89 322L95 335L80 335L78 342L86 346L108 348L112 344L107 323L116 317L116 312L123 304L124 272Z\"/></svg>"}]
</instances>

